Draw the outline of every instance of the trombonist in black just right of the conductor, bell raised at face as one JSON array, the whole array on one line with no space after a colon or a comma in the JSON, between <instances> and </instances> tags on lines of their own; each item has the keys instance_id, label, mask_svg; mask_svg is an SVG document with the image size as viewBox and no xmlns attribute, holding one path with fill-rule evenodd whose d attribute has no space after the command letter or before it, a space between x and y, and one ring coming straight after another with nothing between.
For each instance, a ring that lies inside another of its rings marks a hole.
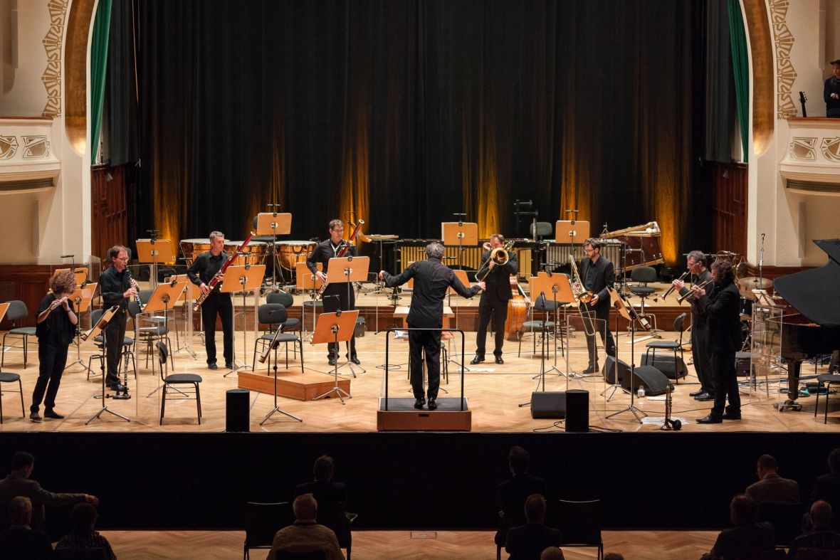
<instances>
[{"instance_id":1,"label":"trombonist in black just right of the conductor, bell raised at face","mask_svg":"<svg viewBox=\"0 0 840 560\"><path fill-rule=\"evenodd\" d=\"M487 325L493 317L493 331L496 332L496 343L493 347L493 355L496 356L496 364L504 364L501 359L501 346L505 343L505 321L507 321L507 302L513 297L510 278L517 274L517 255L507 251L507 262L496 264L494 251L502 248L505 238L501 233L493 233L490 236L489 247L481 255L479 270L488 269L484 278L486 290L481 292L481 300L478 304L478 333L475 335L475 358L470 364L480 364L484 361L485 345L487 342Z\"/></svg>"}]
</instances>

